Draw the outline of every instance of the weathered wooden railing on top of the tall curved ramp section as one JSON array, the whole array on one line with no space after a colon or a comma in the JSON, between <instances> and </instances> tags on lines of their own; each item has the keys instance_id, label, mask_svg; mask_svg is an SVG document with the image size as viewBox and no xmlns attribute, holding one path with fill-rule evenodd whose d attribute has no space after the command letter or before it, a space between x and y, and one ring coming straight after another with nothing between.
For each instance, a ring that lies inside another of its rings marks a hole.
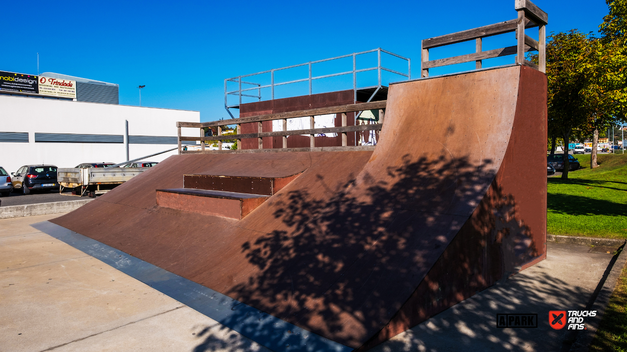
<instances>
[{"instance_id":1,"label":"weathered wooden railing on top of the tall curved ramp section","mask_svg":"<svg viewBox=\"0 0 627 352\"><path fill-rule=\"evenodd\" d=\"M467 63L472 61L475 61L476 63L475 68L480 69L482 68L482 60L511 54L516 54L516 63L518 63L519 65L530 66L532 68L535 68L535 70L546 72L545 26L549 21L549 16L547 15L547 13L535 6L535 4L529 0L515 0L515 9L516 11L518 11L517 19L511 19L510 21L505 21L502 23L490 24L489 26L468 29L467 31L446 34L444 36L438 36L435 38L424 39L422 43L421 76L428 77L429 68L455 65L458 63ZM534 27L538 27L539 40L537 41L525 34L526 28ZM516 32L516 39L518 41L517 45L508 46L507 48L482 51L483 38L510 32ZM429 49L448 44L461 43L463 41L469 41L472 39L475 39L476 41L475 53L429 61ZM535 65L534 63L525 60L525 53L532 50L538 51L539 65Z\"/></svg>"}]
</instances>

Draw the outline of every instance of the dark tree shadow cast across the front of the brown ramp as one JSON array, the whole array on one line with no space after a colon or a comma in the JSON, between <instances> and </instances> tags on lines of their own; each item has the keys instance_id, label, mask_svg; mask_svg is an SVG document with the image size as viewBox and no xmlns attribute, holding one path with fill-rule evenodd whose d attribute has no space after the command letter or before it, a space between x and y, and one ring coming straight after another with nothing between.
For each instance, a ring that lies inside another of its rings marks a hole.
<instances>
[{"instance_id":1,"label":"dark tree shadow cast across the front of the brown ramp","mask_svg":"<svg viewBox=\"0 0 627 352\"><path fill-rule=\"evenodd\" d=\"M511 267L537 256L524 222L495 228L498 209L514 211L510 208L515 200L499 194L492 184L491 160L477 166L465 158L411 160L406 155L402 165L389 167L386 173L384 180L356 175L337 187L318 173L315 182L327 198L307 190L285 190L273 214L282 229L243 244L241 251L255 271L226 294L357 348L391 321L398 326L415 325L416 319L422 321L493 284L495 276L500 278L507 271L502 258L488 263L484 257L495 253L500 258L504 239L522 247L512 247L507 258L514 262ZM491 197L485 197L488 189L495 191ZM473 212L485 214L466 224ZM455 246L460 255L451 252L444 260L450 272L426 281L429 270L465 224L474 229L474 237L465 234L467 239ZM488 265L498 268L484 267ZM399 316L407 313L407 309L399 311L423 282L426 289L418 318ZM245 318L235 313L230 321L220 323L231 326ZM271 345L285 349L297 347L284 343L286 335L277 334L273 326L256 324L254 329L245 336L263 336ZM299 343L298 338L293 341ZM310 341L298 349L325 348Z\"/></svg>"}]
</instances>

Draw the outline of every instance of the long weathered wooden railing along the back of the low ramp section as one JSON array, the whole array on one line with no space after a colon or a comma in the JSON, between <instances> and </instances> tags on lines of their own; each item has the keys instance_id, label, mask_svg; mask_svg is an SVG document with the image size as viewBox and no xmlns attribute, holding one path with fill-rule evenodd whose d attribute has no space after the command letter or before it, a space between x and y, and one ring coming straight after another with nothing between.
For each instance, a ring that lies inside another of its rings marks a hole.
<instances>
[{"instance_id":1,"label":"long weathered wooden railing along the back of the low ramp section","mask_svg":"<svg viewBox=\"0 0 627 352\"><path fill-rule=\"evenodd\" d=\"M371 103L358 103L358 104L350 104L350 105L340 105L340 106L329 106L327 108L317 108L310 110L301 110L301 111L290 111L286 113L273 113L269 115L258 115L258 116L250 116L250 117L241 117L241 118L233 118L231 120L219 120L212 122L177 122L176 127L178 128L178 145L179 145L179 154L182 153L181 150L181 141L201 141L201 150L195 151L196 153L206 153L206 152L216 152L205 150L204 142L218 142L218 151L222 150L222 141L223 140L237 140L238 150L241 150L241 140L246 138L257 138L258 140L258 149L263 149L263 137L283 137L283 148L278 148L278 150L288 150L291 148L287 148L287 136L290 135L309 135L310 148L315 148L315 135L319 133L341 133L342 135L342 147L327 147L327 150L349 150L352 147L348 144L347 133L349 132L362 132L369 130L381 130L383 125L384 118L384 108L386 107L386 101L374 101ZM356 126L347 126L347 116L346 113L356 112L356 111L364 111L364 110L379 110L379 123L374 123L371 125L356 125ZM327 128L314 128L314 116L316 115L327 115L327 114L342 114L342 126L341 127L327 127ZM299 118L299 117L309 117L310 127L307 130L287 130L287 119L288 118ZM272 121L272 120L282 120L283 122L283 130L275 131L275 132L263 132L261 123L264 121ZM256 122L258 132L257 133L241 133L241 124L242 123L251 123ZM224 125L236 125L237 134L235 135L222 135L222 127ZM200 128L200 137L183 137L181 136L181 128L182 127L192 127L192 128ZM218 135L204 137L205 127L218 127ZM362 148L362 147L357 147ZM299 150L302 148L298 148ZM276 150L276 148L275 148ZM236 150L232 150L231 152L236 152Z\"/></svg>"}]
</instances>

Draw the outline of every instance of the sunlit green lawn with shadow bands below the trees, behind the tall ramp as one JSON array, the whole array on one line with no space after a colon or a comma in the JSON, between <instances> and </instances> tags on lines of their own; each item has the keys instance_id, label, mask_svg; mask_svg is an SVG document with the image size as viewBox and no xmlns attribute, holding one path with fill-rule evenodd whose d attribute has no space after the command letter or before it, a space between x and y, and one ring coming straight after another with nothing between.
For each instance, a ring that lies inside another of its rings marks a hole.
<instances>
[{"instance_id":1,"label":"sunlit green lawn with shadow bands below the trees, behind the tall ramp","mask_svg":"<svg viewBox=\"0 0 627 352\"><path fill-rule=\"evenodd\" d=\"M548 179L547 233L627 238L627 154L577 155L582 169Z\"/></svg>"}]
</instances>

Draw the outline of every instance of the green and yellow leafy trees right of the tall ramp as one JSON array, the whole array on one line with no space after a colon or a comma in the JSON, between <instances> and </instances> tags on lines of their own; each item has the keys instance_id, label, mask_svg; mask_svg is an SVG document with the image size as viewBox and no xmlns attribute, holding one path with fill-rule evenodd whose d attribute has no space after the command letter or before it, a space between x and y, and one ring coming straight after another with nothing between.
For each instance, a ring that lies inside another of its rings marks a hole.
<instances>
[{"instance_id":1,"label":"green and yellow leafy trees right of the tall ramp","mask_svg":"<svg viewBox=\"0 0 627 352\"><path fill-rule=\"evenodd\" d=\"M564 138L563 179L568 178L567 145L573 132L593 137L591 167L596 167L599 130L627 115L627 0L606 3L609 14L599 26L601 38L576 29L548 38L548 132L552 142ZM532 60L537 62L537 55Z\"/></svg>"}]
</instances>

